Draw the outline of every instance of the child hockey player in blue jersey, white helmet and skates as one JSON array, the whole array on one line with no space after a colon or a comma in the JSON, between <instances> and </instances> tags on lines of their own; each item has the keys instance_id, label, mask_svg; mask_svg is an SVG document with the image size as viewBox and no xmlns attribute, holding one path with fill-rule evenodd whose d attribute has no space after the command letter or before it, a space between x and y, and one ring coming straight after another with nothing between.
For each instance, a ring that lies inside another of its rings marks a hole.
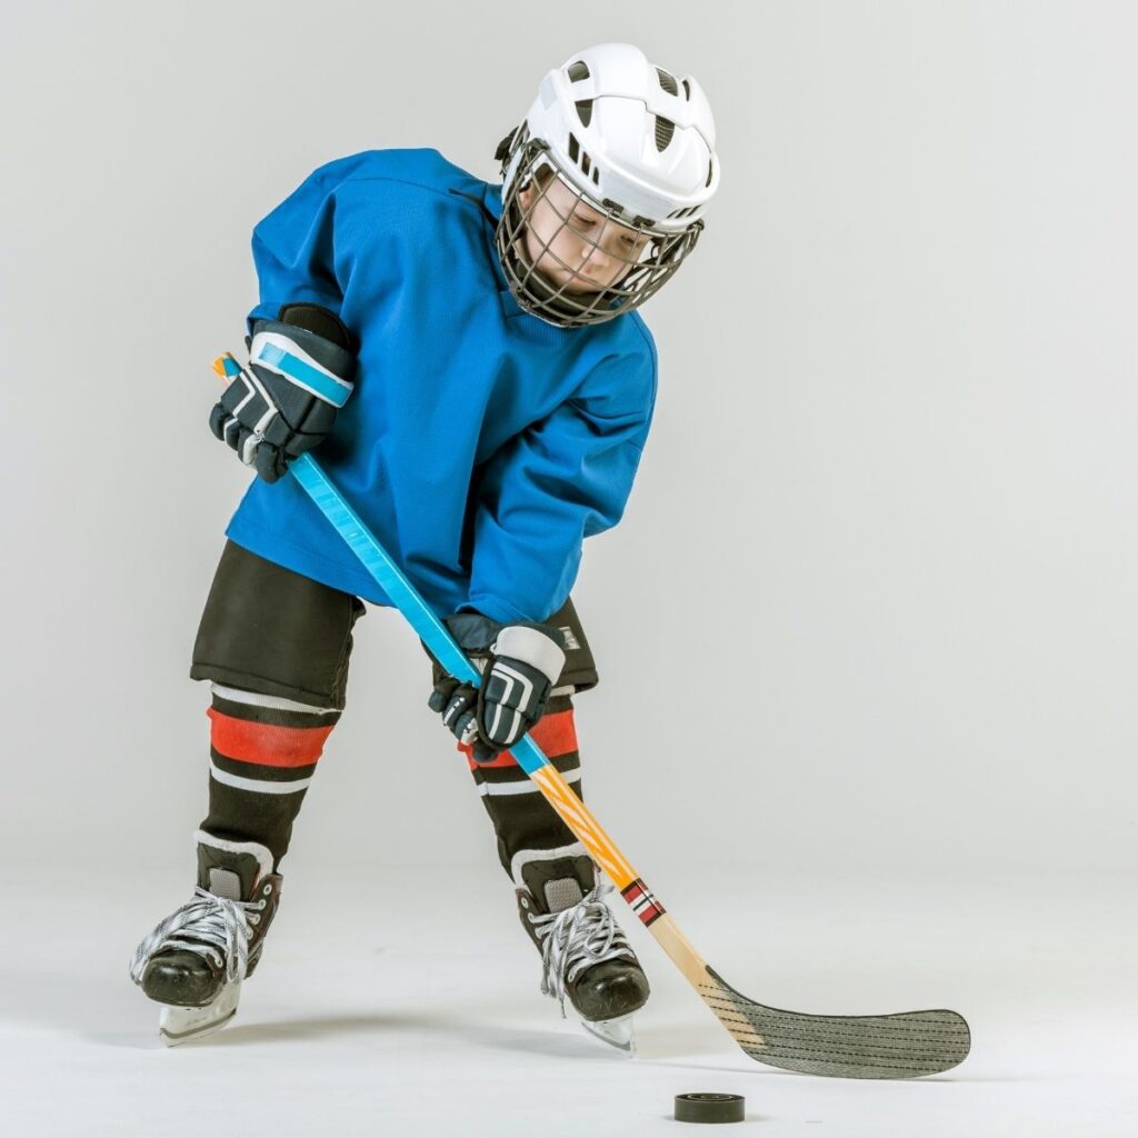
<instances>
[{"instance_id":1,"label":"child hockey player in blue jersey, white helmet and skates","mask_svg":"<svg viewBox=\"0 0 1138 1138\"><path fill-rule=\"evenodd\" d=\"M632 488L657 379L635 310L702 230L715 127L695 80L608 43L546 75L497 158L501 185L435 150L355 155L255 229L256 362L211 418L258 477L193 649L212 686L197 888L131 964L167 1042L236 1011L362 600L389 603L284 477L315 446L483 670L476 691L435 662L430 707L467 753L543 991L621 1046L648 999L607 887L510 747L531 732L580 792L572 699L597 677L569 591Z\"/></svg>"}]
</instances>

